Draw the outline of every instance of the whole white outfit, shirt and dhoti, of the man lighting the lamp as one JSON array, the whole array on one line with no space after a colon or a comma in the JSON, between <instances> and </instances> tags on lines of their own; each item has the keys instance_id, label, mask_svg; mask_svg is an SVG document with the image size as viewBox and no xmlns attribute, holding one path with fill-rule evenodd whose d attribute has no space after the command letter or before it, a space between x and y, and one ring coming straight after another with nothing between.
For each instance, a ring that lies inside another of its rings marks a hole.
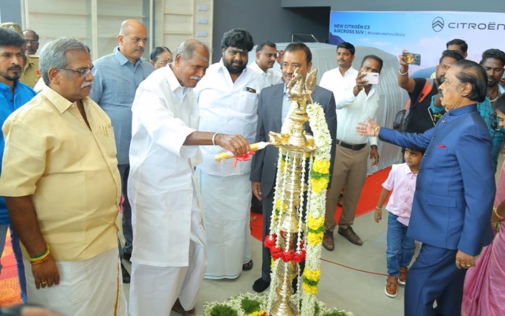
<instances>
[{"instance_id":1,"label":"whole white outfit, shirt and dhoti, of the man lighting the lamp","mask_svg":"<svg viewBox=\"0 0 505 316\"><path fill-rule=\"evenodd\" d=\"M198 107L167 66L140 84L132 114L130 314L165 316L177 298L186 309L194 306L206 266L194 171L201 154L198 146L183 146L198 127Z\"/></svg>"}]
</instances>

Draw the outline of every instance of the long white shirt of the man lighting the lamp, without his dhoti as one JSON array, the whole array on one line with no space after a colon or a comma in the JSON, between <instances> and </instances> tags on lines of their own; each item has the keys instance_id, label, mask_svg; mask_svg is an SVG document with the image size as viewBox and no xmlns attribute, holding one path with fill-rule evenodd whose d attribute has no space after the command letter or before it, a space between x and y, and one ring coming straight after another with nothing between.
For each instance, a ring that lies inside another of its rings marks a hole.
<instances>
[{"instance_id":1,"label":"long white shirt of the man lighting the lamp, without his dhoti","mask_svg":"<svg viewBox=\"0 0 505 316\"><path fill-rule=\"evenodd\" d=\"M183 146L186 137L198 128L194 95L180 86L169 66L163 67L138 87L132 114L128 178L134 236L131 261L187 266L192 172L201 161L198 146Z\"/></svg>"}]
</instances>

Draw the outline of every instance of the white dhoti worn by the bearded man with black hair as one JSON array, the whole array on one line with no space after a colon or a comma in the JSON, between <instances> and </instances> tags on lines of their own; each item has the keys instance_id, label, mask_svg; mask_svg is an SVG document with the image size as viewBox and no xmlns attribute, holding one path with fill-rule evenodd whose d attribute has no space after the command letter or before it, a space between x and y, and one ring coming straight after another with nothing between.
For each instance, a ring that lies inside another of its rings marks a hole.
<instances>
[{"instance_id":1,"label":"white dhoti worn by the bearded man with black hair","mask_svg":"<svg viewBox=\"0 0 505 316\"><path fill-rule=\"evenodd\" d=\"M226 177L198 170L207 230L205 279L235 279L251 259L249 173Z\"/></svg>"}]
</instances>

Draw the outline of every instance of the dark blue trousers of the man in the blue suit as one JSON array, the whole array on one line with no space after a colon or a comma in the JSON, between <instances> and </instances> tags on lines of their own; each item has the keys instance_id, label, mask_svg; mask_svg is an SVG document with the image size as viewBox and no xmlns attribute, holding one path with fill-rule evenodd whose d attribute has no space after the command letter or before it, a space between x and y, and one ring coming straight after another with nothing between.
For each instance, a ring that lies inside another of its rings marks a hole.
<instances>
[{"instance_id":1,"label":"dark blue trousers of the man in the blue suit","mask_svg":"<svg viewBox=\"0 0 505 316\"><path fill-rule=\"evenodd\" d=\"M461 316L467 270L456 267L457 252L422 245L407 276L405 316Z\"/></svg>"}]
</instances>

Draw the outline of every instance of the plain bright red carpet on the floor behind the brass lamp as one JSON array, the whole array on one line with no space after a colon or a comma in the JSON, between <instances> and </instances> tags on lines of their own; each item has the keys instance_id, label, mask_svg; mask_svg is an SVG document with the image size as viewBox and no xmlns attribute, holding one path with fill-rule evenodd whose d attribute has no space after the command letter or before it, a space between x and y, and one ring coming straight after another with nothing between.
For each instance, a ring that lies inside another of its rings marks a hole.
<instances>
[{"instance_id":1,"label":"plain bright red carpet on the floor behind the brass lamp","mask_svg":"<svg viewBox=\"0 0 505 316\"><path fill-rule=\"evenodd\" d=\"M380 192L382 191L382 183L387 178L389 174L389 170L391 167L380 170L370 176L367 177L365 181L365 186L361 191L360 201L358 202L358 206L356 207L356 217L366 214L375 210L377 206L377 200L379 199ZM340 218L340 214L342 213L342 207L337 206L335 211L335 220L338 222ZM259 213L251 213L251 235L258 239L262 240L262 230L263 230L263 216Z\"/></svg>"}]
</instances>

